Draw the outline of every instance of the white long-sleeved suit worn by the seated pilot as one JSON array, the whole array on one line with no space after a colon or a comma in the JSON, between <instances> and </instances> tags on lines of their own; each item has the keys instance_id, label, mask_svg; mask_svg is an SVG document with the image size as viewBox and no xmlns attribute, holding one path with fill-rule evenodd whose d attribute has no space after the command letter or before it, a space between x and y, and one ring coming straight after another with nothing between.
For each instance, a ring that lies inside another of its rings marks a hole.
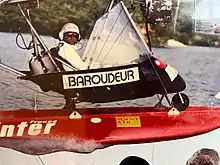
<instances>
[{"instance_id":1,"label":"white long-sleeved suit worn by the seated pilot","mask_svg":"<svg viewBox=\"0 0 220 165\"><path fill-rule=\"evenodd\" d=\"M61 42L58 54L66 59L69 63L72 64L76 70L86 70L88 69L89 64L84 62L79 54L76 52L74 45L70 45L66 42ZM73 69L69 68L65 64L63 64L63 68L65 71L73 71Z\"/></svg>"}]
</instances>

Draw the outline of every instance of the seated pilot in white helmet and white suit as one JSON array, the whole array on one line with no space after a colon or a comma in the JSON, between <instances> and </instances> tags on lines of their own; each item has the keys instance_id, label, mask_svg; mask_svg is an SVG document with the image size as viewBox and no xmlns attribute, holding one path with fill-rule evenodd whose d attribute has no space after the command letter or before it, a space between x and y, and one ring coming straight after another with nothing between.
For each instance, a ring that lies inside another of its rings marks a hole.
<instances>
[{"instance_id":1,"label":"seated pilot in white helmet and white suit","mask_svg":"<svg viewBox=\"0 0 220 165\"><path fill-rule=\"evenodd\" d=\"M76 52L74 45L81 39L79 27L74 23L66 23L59 32L59 51L58 54L68 61L76 70L86 70L89 65L84 62ZM62 65L65 71L72 71L66 65Z\"/></svg>"}]
</instances>

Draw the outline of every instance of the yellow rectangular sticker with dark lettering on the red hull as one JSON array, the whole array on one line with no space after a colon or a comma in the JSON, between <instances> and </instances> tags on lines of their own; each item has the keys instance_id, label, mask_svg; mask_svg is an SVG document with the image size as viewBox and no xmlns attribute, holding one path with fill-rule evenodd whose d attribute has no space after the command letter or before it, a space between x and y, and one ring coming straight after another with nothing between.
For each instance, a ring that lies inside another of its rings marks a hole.
<instances>
[{"instance_id":1,"label":"yellow rectangular sticker with dark lettering on the red hull","mask_svg":"<svg viewBox=\"0 0 220 165\"><path fill-rule=\"evenodd\" d=\"M117 127L141 127L139 116L116 117Z\"/></svg>"}]
</instances>

